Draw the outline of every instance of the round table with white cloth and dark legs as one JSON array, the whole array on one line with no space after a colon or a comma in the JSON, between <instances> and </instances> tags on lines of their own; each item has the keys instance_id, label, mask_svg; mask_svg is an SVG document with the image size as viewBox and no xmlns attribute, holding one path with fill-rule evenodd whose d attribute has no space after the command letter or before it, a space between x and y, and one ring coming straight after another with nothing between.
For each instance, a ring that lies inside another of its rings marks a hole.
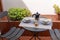
<instances>
[{"instance_id":1,"label":"round table with white cloth and dark legs","mask_svg":"<svg viewBox=\"0 0 60 40\"><path fill-rule=\"evenodd\" d=\"M30 23L24 23L23 21L25 19L29 19L29 20L31 20L31 22ZM36 34L38 34L41 31L45 31L45 30L48 30L48 29L52 28L52 20L51 19L49 21L49 25L43 25L43 24L41 24L42 20L46 20L46 19L47 18L39 18L39 21L38 21L39 25L37 27L35 27L35 25L34 25L34 18L33 17L26 17L26 18L24 18L21 21L21 23L19 24L19 26L22 26L26 30L32 31L33 32L33 37L35 38L35 40L36 40L36 37L40 40L40 38Z\"/></svg>"}]
</instances>

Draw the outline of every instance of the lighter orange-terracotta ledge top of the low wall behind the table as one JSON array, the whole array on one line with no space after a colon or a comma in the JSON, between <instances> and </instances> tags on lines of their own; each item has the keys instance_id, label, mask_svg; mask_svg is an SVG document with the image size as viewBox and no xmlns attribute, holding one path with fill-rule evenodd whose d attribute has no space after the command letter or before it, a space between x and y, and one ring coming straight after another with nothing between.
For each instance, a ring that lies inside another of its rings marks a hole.
<instances>
[{"instance_id":1,"label":"lighter orange-terracotta ledge top of the low wall behind the table","mask_svg":"<svg viewBox=\"0 0 60 40\"><path fill-rule=\"evenodd\" d=\"M49 18L49 19L52 19L53 22L60 22L60 20L58 20L58 15L42 15L43 17L46 17L46 18ZM8 19L7 19L7 16L3 17L0 21L5 21L7 22ZM14 22L14 21L12 21ZM16 21L15 21L16 22Z\"/></svg>"}]
</instances>

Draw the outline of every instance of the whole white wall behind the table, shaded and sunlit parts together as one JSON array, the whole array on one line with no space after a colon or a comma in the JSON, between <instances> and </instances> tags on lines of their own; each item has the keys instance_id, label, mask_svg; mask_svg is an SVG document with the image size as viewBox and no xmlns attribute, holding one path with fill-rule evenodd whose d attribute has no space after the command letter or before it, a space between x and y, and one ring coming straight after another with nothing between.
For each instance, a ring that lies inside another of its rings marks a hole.
<instances>
[{"instance_id":1,"label":"whole white wall behind the table, shaded and sunlit parts together","mask_svg":"<svg viewBox=\"0 0 60 40\"><path fill-rule=\"evenodd\" d=\"M8 10L11 7L24 7L34 14L37 11L40 14L54 15L54 4L60 6L60 0L2 0L3 10Z\"/></svg>"}]
</instances>

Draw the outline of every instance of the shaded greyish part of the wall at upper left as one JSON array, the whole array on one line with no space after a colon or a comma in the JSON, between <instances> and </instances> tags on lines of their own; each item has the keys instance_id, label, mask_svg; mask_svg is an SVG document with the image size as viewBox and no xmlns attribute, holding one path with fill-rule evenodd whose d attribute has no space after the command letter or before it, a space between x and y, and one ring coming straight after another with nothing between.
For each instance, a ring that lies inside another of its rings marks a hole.
<instances>
[{"instance_id":1,"label":"shaded greyish part of the wall at upper left","mask_svg":"<svg viewBox=\"0 0 60 40\"><path fill-rule=\"evenodd\" d=\"M2 0L3 10L6 11L9 8L22 7L27 8L22 0Z\"/></svg>"}]
</instances>

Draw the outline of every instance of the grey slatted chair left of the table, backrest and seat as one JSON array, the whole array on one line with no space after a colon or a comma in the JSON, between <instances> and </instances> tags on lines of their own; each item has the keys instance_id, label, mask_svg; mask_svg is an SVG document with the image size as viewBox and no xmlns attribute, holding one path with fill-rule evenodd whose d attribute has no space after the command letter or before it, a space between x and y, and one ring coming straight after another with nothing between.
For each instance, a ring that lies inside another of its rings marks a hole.
<instances>
[{"instance_id":1,"label":"grey slatted chair left of the table, backrest and seat","mask_svg":"<svg viewBox=\"0 0 60 40\"><path fill-rule=\"evenodd\" d=\"M8 15L7 11L0 12L0 18L7 16L7 15ZM1 37L5 37L8 40L16 40L22 35L23 32L24 32L24 29L12 27L6 34L1 35Z\"/></svg>"}]
</instances>

